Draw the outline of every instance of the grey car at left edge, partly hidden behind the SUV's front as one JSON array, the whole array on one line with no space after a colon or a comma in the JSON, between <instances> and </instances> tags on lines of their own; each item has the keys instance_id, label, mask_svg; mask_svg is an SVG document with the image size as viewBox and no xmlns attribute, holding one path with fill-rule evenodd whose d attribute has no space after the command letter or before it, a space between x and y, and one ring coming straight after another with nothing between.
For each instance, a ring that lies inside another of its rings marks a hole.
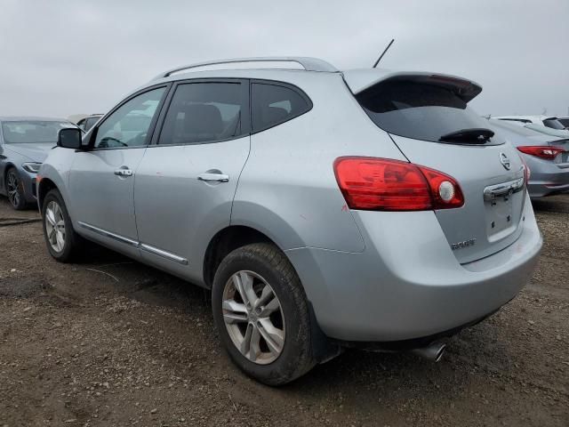
<instances>
[{"instance_id":1,"label":"grey car at left edge, partly hidden behind the SUV's front","mask_svg":"<svg viewBox=\"0 0 569 427\"><path fill-rule=\"evenodd\" d=\"M56 146L60 118L0 117L0 195L16 210L36 205L36 173Z\"/></svg>"}]
</instances>

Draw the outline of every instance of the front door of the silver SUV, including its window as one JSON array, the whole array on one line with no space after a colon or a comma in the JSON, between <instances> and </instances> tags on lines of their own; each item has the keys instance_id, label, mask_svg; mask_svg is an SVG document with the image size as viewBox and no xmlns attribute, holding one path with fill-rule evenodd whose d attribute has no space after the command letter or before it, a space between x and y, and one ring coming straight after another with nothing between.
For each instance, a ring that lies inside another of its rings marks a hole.
<instances>
[{"instance_id":1,"label":"front door of the silver SUV, including its window","mask_svg":"<svg viewBox=\"0 0 569 427\"><path fill-rule=\"evenodd\" d=\"M92 150L76 153L69 176L77 230L130 255L139 255L134 180L165 90L139 93L108 115L93 129Z\"/></svg>"}]
</instances>

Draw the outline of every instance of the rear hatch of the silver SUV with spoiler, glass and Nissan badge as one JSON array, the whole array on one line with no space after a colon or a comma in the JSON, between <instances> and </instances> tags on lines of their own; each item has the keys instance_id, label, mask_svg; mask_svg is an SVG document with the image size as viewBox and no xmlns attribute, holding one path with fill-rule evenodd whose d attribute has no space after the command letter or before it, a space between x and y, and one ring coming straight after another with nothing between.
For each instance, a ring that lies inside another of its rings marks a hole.
<instances>
[{"instance_id":1,"label":"rear hatch of the silver SUV with spoiler, glass and Nissan badge","mask_svg":"<svg viewBox=\"0 0 569 427\"><path fill-rule=\"evenodd\" d=\"M447 173L461 186L462 207L435 211L457 260L476 261L515 242L524 221L524 166L517 149L469 109L480 86L425 73L379 74L363 84L356 74L354 85L350 72L344 78L373 123L411 163Z\"/></svg>"}]
</instances>

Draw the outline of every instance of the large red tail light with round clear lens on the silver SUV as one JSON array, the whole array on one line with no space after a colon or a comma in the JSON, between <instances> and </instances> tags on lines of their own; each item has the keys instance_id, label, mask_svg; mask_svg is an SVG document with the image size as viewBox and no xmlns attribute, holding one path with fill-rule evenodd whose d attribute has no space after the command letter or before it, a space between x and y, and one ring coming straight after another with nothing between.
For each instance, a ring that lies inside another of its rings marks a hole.
<instances>
[{"instance_id":1,"label":"large red tail light with round clear lens on the silver SUV","mask_svg":"<svg viewBox=\"0 0 569 427\"><path fill-rule=\"evenodd\" d=\"M336 181L350 209L426 211L464 205L453 177L425 166L374 157L339 157Z\"/></svg>"}]
</instances>

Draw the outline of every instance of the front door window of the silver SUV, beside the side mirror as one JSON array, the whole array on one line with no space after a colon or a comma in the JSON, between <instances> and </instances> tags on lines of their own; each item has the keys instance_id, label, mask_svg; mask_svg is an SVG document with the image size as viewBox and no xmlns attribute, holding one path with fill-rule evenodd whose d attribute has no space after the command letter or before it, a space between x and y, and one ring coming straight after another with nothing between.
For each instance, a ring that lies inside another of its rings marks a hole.
<instances>
[{"instance_id":1,"label":"front door window of the silver SUV, beside the side mirror","mask_svg":"<svg viewBox=\"0 0 569 427\"><path fill-rule=\"evenodd\" d=\"M148 129L165 90L165 87L160 87L141 93L116 109L97 129L94 148L146 145Z\"/></svg>"}]
</instances>

